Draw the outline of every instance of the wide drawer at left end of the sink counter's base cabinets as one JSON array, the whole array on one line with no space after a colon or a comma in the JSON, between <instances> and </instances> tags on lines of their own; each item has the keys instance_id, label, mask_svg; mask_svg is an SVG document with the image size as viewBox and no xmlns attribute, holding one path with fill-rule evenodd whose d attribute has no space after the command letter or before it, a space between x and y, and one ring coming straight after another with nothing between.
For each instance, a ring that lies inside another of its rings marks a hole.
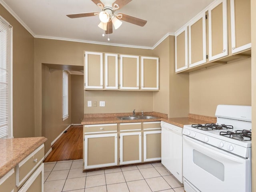
<instances>
[{"instance_id":1,"label":"wide drawer at left end of the sink counter's base cabinets","mask_svg":"<svg viewBox=\"0 0 256 192\"><path fill-rule=\"evenodd\" d=\"M84 125L84 134L117 132L117 124Z\"/></svg>"}]
</instances>

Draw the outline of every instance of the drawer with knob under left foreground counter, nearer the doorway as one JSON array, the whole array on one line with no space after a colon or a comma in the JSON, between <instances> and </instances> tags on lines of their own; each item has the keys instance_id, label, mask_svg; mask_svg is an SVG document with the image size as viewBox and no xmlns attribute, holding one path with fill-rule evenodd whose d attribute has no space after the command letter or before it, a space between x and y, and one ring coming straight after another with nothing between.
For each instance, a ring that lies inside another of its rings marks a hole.
<instances>
[{"instance_id":1,"label":"drawer with knob under left foreground counter, nearer the doorway","mask_svg":"<svg viewBox=\"0 0 256 192\"><path fill-rule=\"evenodd\" d=\"M44 144L16 165L16 186L27 180L44 159Z\"/></svg>"}]
</instances>

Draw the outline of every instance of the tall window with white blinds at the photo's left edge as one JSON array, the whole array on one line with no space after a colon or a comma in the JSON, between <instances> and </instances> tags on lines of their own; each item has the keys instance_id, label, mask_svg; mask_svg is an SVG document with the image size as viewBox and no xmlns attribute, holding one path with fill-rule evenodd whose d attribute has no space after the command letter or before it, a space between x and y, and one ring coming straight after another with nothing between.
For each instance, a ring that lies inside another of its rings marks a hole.
<instances>
[{"instance_id":1,"label":"tall window with white blinds at the photo's left edge","mask_svg":"<svg viewBox=\"0 0 256 192\"><path fill-rule=\"evenodd\" d=\"M12 137L12 26L0 16L0 138Z\"/></svg>"}]
</instances>

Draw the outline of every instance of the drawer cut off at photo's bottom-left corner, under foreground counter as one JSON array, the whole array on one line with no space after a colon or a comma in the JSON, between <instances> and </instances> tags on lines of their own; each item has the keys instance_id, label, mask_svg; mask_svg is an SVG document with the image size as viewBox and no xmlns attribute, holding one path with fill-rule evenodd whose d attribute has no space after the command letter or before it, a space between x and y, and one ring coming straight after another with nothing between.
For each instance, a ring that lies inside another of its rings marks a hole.
<instances>
[{"instance_id":1,"label":"drawer cut off at photo's bottom-left corner, under foreground counter","mask_svg":"<svg viewBox=\"0 0 256 192\"><path fill-rule=\"evenodd\" d=\"M15 174L14 169L12 169L0 179L0 191L13 192L14 188L16 188Z\"/></svg>"}]
</instances>

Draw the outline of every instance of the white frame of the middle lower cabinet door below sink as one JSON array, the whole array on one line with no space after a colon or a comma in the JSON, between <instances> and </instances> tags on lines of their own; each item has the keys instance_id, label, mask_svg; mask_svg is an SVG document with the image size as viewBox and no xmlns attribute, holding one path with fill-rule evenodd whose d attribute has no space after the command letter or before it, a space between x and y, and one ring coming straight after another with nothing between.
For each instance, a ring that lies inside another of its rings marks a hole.
<instances>
[{"instance_id":1,"label":"white frame of the middle lower cabinet door below sink","mask_svg":"<svg viewBox=\"0 0 256 192\"><path fill-rule=\"evenodd\" d=\"M123 161L123 136L128 135L138 135L139 137L139 159L133 161ZM120 133L120 165L122 164L132 164L141 162L141 132L133 132L133 133Z\"/></svg>"}]
</instances>

